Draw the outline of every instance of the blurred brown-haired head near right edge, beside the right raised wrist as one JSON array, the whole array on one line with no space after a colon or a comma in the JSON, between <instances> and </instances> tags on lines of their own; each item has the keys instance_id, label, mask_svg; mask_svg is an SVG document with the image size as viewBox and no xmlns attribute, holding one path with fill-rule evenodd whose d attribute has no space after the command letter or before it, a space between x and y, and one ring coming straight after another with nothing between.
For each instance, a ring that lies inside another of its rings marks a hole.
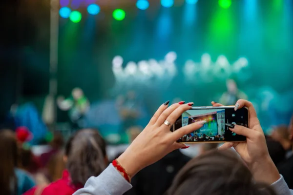
<instances>
[{"instance_id":1,"label":"blurred brown-haired head near right edge, beside the right raised wrist","mask_svg":"<svg viewBox=\"0 0 293 195\"><path fill-rule=\"evenodd\" d=\"M290 132L286 125L274 127L271 137L275 141L280 142L284 150L291 149Z\"/></svg>"}]
</instances>

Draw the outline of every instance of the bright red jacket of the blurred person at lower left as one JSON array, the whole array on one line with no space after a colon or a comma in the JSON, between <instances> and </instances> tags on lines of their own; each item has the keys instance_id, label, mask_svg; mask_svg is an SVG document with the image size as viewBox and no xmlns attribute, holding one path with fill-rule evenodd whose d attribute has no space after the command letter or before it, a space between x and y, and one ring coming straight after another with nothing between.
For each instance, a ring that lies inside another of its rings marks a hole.
<instances>
[{"instance_id":1,"label":"bright red jacket of the blurred person at lower left","mask_svg":"<svg viewBox=\"0 0 293 195\"><path fill-rule=\"evenodd\" d=\"M67 170L63 171L61 179L49 184L45 188L34 187L23 195L72 195L83 186L74 186L70 182L70 176Z\"/></svg>"}]
</instances>

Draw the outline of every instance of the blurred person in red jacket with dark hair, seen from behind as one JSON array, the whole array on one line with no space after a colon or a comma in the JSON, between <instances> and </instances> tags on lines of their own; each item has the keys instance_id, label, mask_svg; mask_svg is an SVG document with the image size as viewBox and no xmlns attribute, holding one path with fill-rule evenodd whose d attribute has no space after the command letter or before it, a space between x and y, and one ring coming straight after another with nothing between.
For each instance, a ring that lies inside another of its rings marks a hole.
<instances>
[{"instance_id":1,"label":"blurred person in red jacket with dark hair, seen from behind","mask_svg":"<svg viewBox=\"0 0 293 195\"><path fill-rule=\"evenodd\" d=\"M65 146L63 159L66 163L66 170L63 171L62 178L48 186L35 187L24 195L72 195L84 186L89 177L98 176L104 171L108 164L105 147L105 140L96 129L78 131L70 137ZM52 171L57 173L55 178L59 173L57 169L62 169L62 166L55 167L55 170Z\"/></svg>"}]
</instances>

